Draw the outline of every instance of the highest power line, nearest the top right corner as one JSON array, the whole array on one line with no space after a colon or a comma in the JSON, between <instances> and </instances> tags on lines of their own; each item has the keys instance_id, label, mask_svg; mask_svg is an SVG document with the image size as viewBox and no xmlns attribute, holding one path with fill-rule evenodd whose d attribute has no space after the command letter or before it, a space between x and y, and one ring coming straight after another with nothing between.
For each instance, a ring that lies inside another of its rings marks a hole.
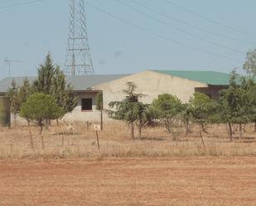
<instances>
[{"instance_id":1,"label":"highest power line, nearest the top right corner","mask_svg":"<svg viewBox=\"0 0 256 206\"><path fill-rule=\"evenodd\" d=\"M255 35L250 34L250 33L246 32L246 31L239 30L239 29L234 28L234 27L232 27L232 26L227 26L227 25L225 25L225 24L223 24L223 23L221 23L221 22L217 22L217 21L215 21L215 20L213 20L213 19L210 19L209 17L205 17L205 16L200 15L200 14L198 14L198 13L196 13L196 12L193 12L193 11L191 11L190 9L187 9L186 7L181 7L180 5L177 5L176 3L171 2L170 0L165 0L165 2L167 2L168 4L171 4L171 5L174 6L174 7L178 7L178 8L180 8L181 10L184 10L184 11L186 11L186 12L188 12L188 13L191 13L192 15L194 15L194 16L196 16L196 17L200 17L201 19L204 19L204 20L207 21L207 22L214 23L214 24L216 24L216 25L218 25L218 26L225 27L226 29L229 29L229 30L231 30L231 31L236 31L236 32L242 33L242 34L247 35L247 36L256 37Z\"/></svg>"}]
</instances>

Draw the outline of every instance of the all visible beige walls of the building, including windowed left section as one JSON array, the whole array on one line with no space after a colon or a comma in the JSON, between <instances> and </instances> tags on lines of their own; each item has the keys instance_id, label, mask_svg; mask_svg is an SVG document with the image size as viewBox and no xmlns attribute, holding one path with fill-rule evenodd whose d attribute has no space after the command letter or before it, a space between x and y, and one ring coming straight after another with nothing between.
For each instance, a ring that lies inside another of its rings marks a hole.
<instances>
[{"instance_id":1,"label":"all visible beige walls of the building, including windowed left section","mask_svg":"<svg viewBox=\"0 0 256 206\"><path fill-rule=\"evenodd\" d=\"M104 109L109 109L109 103L111 101L120 101L125 98L125 94L122 90L126 88L125 84L127 82L133 82L138 86L137 93L146 94L140 99L143 103L152 103L152 100L162 93L176 95L177 98L180 98L182 102L186 103L193 93L195 93L195 89L200 92L213 93L214 96L216 95L215 90L208 89L207 84L147 70L142 73L131 74L121 79L96 85L91 91L78 93L78 105L72 113L67 113L62 121L99 122L100 112L96 109L95 101L98 91L103 91ZM93 105L91 111L82 111L82 98L92 98ZM110 120L107 113L104 113L104 121ZM18 122L26 123L26 121L22 121L20 117L18 117Z\"/></svg>"}]
</instances>

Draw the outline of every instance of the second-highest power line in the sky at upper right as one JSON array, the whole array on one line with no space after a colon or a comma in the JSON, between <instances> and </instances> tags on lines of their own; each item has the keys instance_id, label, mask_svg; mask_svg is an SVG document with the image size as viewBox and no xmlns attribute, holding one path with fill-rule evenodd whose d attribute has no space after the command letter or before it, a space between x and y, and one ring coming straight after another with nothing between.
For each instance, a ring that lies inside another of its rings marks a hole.
<instances>
[{"instance_id":1,"label":"second-highest power line in the sky at upper right","mask_svg":"<svg viewBox=\"0 0 256 206\"><path fill-rule=\"evenodd\" d=\"M234 38L234 37L232 37L232 36L226 36L226 35L224 35L224 34L221 34L221 33L215 32L215 31L210 31L210 30L201 28L201 27L199 27L199 26L191 25L191 24L189 24L189 23L187 23L187 22L181 21L180 19L177 19L177 18L175 18L175 17L171 17L170 15L167 15L167 14L165 14L165 13L163 13L163 12L159 12L159 11L153 9L152 7L147 7L147 6L145 6L144 4L142 4L141 2L136 2L136 1L134 1L134 0L130 0L130 1L133 2L134 4L137 4L137 5L140 6L140 7L143 7L143 8L145 8L145 9L147 9L147 11L151 11L151 12L157 13L158 15L161 15L162 17L166 17L166 18L168 18L168 19L171 19L171 21L179 22L179 23L181 23L181 24L183 24L183 25L189 26L189 27L191 27L191 28L193 28L193 29L196 29L196 30L198 30L198 31L203 31L203 32L209 33L209 34L211 34L211 35L220 36L220 37L225 38L225 39L227 39L227 40L237 41L237 42L243 43L243 44L244 44L244 43L245 43L245 44L249 44L249 45L254 44L254 42L239 40L239 39L236 39L236 38Z\"/></svg>"}]
</instances>

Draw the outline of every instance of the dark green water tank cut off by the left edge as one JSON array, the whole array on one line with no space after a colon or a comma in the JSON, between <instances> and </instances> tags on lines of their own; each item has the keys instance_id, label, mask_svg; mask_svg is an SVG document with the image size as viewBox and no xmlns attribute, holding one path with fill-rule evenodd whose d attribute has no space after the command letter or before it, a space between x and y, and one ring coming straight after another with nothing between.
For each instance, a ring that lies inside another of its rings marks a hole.
<instances>
[{"instance_id":1,"label":"dark green water tank cut off by the left edge","mask_svg":"<svg viewBox=\"0 0 256 206\"><path fill-rule=\"evenodd\" d=\"M0 97L0 127L11 127L10 99Z\"/></svg>"}]
</instances>

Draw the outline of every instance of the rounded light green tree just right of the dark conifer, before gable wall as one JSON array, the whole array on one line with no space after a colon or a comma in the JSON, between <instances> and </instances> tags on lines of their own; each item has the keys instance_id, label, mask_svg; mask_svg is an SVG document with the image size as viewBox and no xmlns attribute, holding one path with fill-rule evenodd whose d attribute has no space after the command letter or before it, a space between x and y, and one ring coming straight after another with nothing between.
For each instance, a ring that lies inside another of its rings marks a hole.
<instances>
[{"instance_id":1,"label":"rounded light green tree just right of the dark conifer, before gable wall","mask_svg":"<svg viewBox=\"0 0 256 206\"><path fill-rule=\"evenodd\" d=\"M169 93L164 93L153 100L152 108L154 108L158 118L164 123L167 131L172 134L173 140L176 140L172 125L182 111L181 100Z\"/></svg>"}]
</instances>

